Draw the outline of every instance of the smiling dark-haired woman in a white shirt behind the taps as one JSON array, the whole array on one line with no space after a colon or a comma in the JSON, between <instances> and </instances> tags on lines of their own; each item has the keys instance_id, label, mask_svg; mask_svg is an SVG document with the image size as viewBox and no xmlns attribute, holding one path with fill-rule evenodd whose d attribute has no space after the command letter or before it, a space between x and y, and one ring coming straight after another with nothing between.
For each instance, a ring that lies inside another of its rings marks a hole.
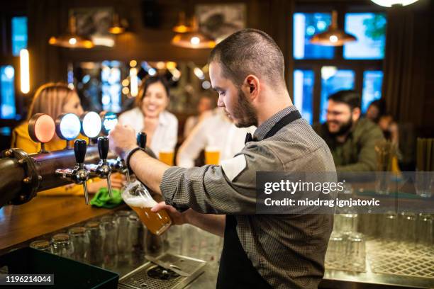
<instances>
[{"instance_id":1,"label":"smiling dark-haired woman in a white shirt behind the taps","mask_svg":"<svg viewBox=\"0 0 434 289\"><path fill-rule=\"evenodd\" d=\"M165 79L144 79L135 103L135 108L119 116L119 123L132 126L136 134L146 132L147 145L156 155L173 151L177 144L178 120L166 111L169 86Z\"/></svg>"}]
</instances>

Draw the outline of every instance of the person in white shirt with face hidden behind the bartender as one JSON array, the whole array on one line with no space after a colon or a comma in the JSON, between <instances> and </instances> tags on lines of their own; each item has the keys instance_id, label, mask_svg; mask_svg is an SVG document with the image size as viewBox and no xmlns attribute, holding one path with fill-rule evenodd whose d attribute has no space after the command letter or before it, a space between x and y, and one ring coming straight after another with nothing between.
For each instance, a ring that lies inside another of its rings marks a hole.
<instances>
[{"instance_id":1,"label":"person in white shirt with face hidden behind the bartender","mask_svg":"<svg viewBox=\"0 0 434 289\"><path fill-rule=\"evenodd\" d=\"M206 147L213 147L220 152L220 162L231 159L244 147L247 132L253 134L255 127L237 128L226 116L223 108L216 108L215 114L201 121L191 132L187 140L179 147L177 165L184 168L194 166L194 160Z\"/></svg>"}]
</instances>

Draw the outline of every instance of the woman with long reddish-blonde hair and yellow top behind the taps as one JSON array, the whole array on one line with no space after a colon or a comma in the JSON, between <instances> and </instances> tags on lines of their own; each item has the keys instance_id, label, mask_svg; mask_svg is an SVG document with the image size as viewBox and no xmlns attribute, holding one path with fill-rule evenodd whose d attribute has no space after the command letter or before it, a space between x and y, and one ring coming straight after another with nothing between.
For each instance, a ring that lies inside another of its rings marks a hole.
<instances>
[{"instance_id":1,"label":"woman with long reddish-blonde hair and yellow top behind the taps","mask_svg":"<svg viewBox=\"0 0 434 289\"><path fill-rule=\"evenodd\" d=\"M30 120L35 113L45 113L55 119L62 113L75 113L76 115L82 115L83 108L77 92L69 89L67 84L50 83L40 86L36 91L35 96L33 96L32 103L28 109L27 120L21 123L21 125L18 125L18 127L16 127L12 132L11 147L18 147L29 154L40 151L40 144L33 142L30 135L28 135L28 120ZM79 138L87 140L87 137L79 136ZM55 151L65 149L65 146L65 140L61 140L57 135L55 135L50 142L45 144L45 149L48 151ZM99 188L106 186L106 180L93 179L87 182L87 190L89 193L96 193ZM111 175L111 186L113 188L122 187L121 179L116 178L116 174ZM70 184L59 188L52 188L38 194L82 195L83 186Z\"/></svg>"}]
</instances>

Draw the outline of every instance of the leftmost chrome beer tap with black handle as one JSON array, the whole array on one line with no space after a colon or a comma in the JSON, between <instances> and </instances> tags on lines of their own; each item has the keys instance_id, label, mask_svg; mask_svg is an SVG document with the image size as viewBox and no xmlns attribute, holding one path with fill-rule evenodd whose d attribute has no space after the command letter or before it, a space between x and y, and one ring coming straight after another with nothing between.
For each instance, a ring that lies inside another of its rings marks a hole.
<instances>
[{"instance_id":1,"label":"leftmost chrome beer tap with black handle","mask_svg":"<svg viewBox=\"0 0 434 289\"><path fill-rule=\"evenodd\" d=\"M84 157L86 157L87 145L85 140L75 140L74 142L74 155L75 166L73 169L56 169L56 176L62 179L73 181L77 184L83 185L84 199L86 204L89 205L89 193L87 192L87 183L89 179L89 171L84 167Z\"/></svg>"}]
</instances>

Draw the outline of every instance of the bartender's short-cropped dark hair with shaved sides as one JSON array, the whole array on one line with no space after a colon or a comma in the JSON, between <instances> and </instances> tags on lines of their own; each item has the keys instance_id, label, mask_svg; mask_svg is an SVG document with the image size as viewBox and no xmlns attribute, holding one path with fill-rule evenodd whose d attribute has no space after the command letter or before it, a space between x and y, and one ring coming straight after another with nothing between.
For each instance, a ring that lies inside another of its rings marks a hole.
<instances>
[{"instance_id":1,"label":"bartender's short-cropped dark hair with shaved sides","mask_svg":"<svg viewBox=\"0 0 434 289\"><path fill-rule=\"evenodd\" d=\"M211 62L221 64L223 77L235 85L240 86L247 75L253 74L274 86L286 87L282 50L261 30L243 29L229 35L213 48Z\"/></svg>"}]
</instances>

